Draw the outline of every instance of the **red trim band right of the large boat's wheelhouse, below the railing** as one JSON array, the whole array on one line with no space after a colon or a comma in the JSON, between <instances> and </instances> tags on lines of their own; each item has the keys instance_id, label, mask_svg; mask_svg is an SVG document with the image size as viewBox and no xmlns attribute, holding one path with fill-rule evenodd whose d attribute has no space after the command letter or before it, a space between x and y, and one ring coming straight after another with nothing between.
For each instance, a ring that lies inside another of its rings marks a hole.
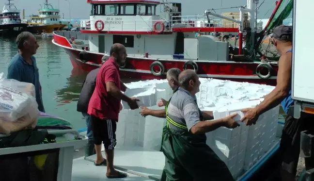
<instances>
[{"instance_id":1,"label":"red trim band right of the large boat's wheelhouse, below the railing","mask_svg":"<svg viewBox=\"0 0 314 181\"><path fill-rule=\"evenodd\" d=\"M239 32L239 29L238 28L220 28L220 27L173 28L173 32Z\"/></svg>"}]
</instances>

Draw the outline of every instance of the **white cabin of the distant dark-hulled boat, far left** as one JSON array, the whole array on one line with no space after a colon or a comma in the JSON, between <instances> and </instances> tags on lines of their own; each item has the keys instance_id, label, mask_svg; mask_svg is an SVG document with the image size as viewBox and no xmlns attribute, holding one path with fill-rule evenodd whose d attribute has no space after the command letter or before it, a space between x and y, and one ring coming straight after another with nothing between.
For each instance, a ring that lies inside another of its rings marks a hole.
<instances>
[{"instance_id":1,"label":"white cabin of the distant dark-hulled boat, far left","mask_svg":"<svg viewBox=\"0 0 314 181\"><path fill-rule=\"evenodd\" d=\"M11 0L8 1L9 3L4 4L0 14L0 24L21 23L20 10L16 9L16 6L10 2Z\"/></svg>"}]
</instances>

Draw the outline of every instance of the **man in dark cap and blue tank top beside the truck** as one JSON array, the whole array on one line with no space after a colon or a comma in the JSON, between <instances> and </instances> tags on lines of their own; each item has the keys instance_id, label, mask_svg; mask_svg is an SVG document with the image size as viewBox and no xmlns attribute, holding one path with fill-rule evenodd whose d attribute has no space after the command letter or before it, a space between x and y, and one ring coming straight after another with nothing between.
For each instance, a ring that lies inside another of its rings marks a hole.
<instances>
[{"instance_id":1,"label":"man in dark cap and blue tank top beside the truck","mask_svg":"<svg viewBox=\"0 0 314 181\"><path fill-rule=\"evenodd\" d=\"M307 128L313 128L314 116L301 113L300 118L293 117L294 102L291 98L292 26L276 27L271 41L281 55L278 62L277 85L258 106L242 110L245 116L241 120L245 121L246 125L255 124L259 115L281 103L287 114L280 143L281 176L283 181L294 181L300 153L300 132ZM307 168L309 159L305 159Z\"/></svg>"}]
</instances>

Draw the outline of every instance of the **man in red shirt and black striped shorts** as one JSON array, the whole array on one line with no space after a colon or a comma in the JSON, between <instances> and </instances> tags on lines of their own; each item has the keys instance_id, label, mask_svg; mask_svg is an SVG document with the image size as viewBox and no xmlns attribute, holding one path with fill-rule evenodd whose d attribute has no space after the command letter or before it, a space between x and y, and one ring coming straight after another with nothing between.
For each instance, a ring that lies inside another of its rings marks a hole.
<instances>
[{"instance_id":1,"label":"man in red shirt and black striped shorts","mask_svg":"<svg viewBox=\"0 0 314 181\"><path fill-rule=\"evenodd\" d=\"M138 109L139 99L129 98L121 92L119 65L126 63L126 48L122 44L113 44L109 59L101 66L92 98L88 104L91 115L92 131L96 151L95 165L105 165L101 155L101 143L104 143L107 159L107 178L125 178L125 173L113 167L113 149L116 145L116 124L118 122L121 100L128 103L131 109Z\"/></svg>"}]
</instances>

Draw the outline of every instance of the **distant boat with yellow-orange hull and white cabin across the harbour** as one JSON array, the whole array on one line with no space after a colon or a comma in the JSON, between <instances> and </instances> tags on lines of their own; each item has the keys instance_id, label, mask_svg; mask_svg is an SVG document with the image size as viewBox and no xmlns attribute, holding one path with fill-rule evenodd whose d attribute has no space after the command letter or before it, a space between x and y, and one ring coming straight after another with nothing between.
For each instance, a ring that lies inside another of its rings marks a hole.
<instances>
[{"instance_id":1,"label":"distant boat with yellow-orange hull and white cabin across the harbour","mask_svg":"<svg viewBox=\"0 0 314 181\"><path fill-rule=\"evenodd\" d=\"M62 30L67 24L60 20L59 13L59 9L53 8L48 0L45 0L42 9L38 10L38 15L30 16L27 31L33 34L41 34Z\"/></svg>"}]
</instances>

